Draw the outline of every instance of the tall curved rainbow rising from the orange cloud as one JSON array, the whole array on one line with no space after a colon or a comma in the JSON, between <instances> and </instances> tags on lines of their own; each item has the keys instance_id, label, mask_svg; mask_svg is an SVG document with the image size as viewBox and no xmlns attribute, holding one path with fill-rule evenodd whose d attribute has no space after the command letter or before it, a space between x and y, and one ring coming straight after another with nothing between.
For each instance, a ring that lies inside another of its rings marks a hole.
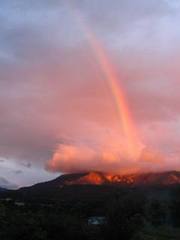
<instances>
[{"instance_id":1,"label":"tall curved rainbow rising from the orange cloud","mask_svg":"<svg viewBox=\"0 0 180 240\"><path fill-rule=\"evenodd\" d=\"M85 21L83 21L80 12L72 6L71 10L86 36L89 46L94 53L97 63L99 64L101 71L104 74L104 77L113 96L116 112L123 129L123 135L125 138L124 140L126 140L128 158L131 158L131 160L136 159L139 155L139 152L141 151L142 143L137 134L137 129L129 111L129 106L124 90L122 86L120 86L120 81L118 79L116 70L110 62L102 43L85 23Z\"/></svg>"}]
</instances>

